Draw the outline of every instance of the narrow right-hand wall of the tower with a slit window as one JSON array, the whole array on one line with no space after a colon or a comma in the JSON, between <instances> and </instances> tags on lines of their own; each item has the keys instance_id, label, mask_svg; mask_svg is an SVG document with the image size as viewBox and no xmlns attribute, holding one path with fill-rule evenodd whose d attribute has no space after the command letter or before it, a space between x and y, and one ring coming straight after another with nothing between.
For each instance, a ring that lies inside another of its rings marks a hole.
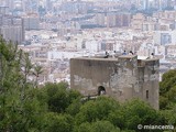
<instances>
[{"instance_id":1,"label":"narrow right-hand wall of the tower with a slit window","mask_svg":"<svg viewBox=\"0 0 176 132\"><path fill-rule=\"evenodd\" d=\"M143 61L143 68L139 68L140 77L142 77L142 99L150 102L150 105L158 109L158 59L146 59ZM142 74L142 75L141 75Z\"/></svg>"}]
</instances>

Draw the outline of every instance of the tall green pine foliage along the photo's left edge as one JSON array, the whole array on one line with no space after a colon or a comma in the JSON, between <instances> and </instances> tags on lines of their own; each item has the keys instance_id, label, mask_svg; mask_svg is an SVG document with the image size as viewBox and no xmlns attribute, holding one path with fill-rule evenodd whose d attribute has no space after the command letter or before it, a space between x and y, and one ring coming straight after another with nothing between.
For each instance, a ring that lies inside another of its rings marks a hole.
<instances>
[{"instance_id":1,"label":"tall green pine foliage along the photo's left edge","mask_svg":"<svg viewBox=\"0 0 176 132\"><path fill-rule=\"evenodd\" d=\"M24 53L0 38L0 131L30 131L41 120L43 106L26 82ZM28 65L28 64L26 64ZM37 127L36 127L37 128Z\"/></svg>"}]
</instances>

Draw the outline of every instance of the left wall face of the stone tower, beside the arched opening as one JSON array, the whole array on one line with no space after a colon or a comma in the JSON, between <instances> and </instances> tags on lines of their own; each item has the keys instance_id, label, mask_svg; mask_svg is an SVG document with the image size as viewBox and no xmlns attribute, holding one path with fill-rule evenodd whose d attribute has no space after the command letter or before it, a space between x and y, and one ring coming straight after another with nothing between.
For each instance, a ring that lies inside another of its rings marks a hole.
<instances>
[{"instance_id":1,"label":"left wall face of the stone tower, beside the arched opening","mask_svg":"<svg viewBox=\"0 0 176 132\"><path fill-rule=\"evenodd\" d=\"M70 87L78 89L85 96L97 95L98 87L103 86L110 94L109 78L111 61L100 59L70 59Z\"/></svg>"}]
</instances>

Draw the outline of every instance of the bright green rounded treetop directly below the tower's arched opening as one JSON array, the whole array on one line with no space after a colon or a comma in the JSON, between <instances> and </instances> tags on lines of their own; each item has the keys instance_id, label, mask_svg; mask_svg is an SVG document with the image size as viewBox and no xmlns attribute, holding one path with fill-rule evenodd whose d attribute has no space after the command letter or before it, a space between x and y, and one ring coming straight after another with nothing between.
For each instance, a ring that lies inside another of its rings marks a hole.
<instances>
[{"instance_id":1,"label":"bright green rounded treetop directly below the tower's arched opening","mask_svg":"<svg viewBox=\"0 0 176 132\"><path fill-rule=\"evenodd\" d=\"M76 123L106 120L108 114L119 107L120 105L111 98L99 97L96 100L90 100L81 106L79 113L76 116Z\"/></svg>"}]
</instances>

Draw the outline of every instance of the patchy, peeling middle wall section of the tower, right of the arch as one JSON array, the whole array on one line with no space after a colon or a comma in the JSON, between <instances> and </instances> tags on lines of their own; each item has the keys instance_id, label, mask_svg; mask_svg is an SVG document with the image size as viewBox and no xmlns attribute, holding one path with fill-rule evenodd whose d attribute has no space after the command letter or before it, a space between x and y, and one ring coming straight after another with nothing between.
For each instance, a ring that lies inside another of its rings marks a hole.
<instances>
[{"instance_id":1,"label":"patchy, peeling middle wall section of the tower, right of the arch","mask_svg":"<svg viewBox=\"0 0 176 132\"><path fill-rule=\"evenodd\" d=\"M114 68L118 70L114 70ZM112 97L120 101L139 97L140 87L136 57L119 57L118 65L111 67L110 75L110 89L112 90Z\"/></svg>"}]
</instances>

